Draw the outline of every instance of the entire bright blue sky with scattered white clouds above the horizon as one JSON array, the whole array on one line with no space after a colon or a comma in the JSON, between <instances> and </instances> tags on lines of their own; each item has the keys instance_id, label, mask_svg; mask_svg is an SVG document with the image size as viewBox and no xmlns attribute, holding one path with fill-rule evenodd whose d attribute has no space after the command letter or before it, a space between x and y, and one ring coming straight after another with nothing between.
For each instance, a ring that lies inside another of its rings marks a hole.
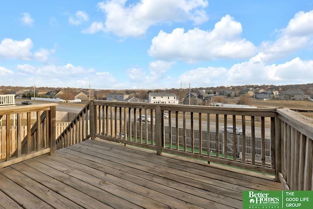
<instances>
[{"instance_id":1,"label":"entire bright blue sky with scattered white clouds above the horizon","mask_svg":"<svg viewBox=\"0 0 313 209\"><path fill-rule=\"evenodd\" d=\"M0 1L0 86L313 82L313 0Z\"/></svg>"}]
</instances>

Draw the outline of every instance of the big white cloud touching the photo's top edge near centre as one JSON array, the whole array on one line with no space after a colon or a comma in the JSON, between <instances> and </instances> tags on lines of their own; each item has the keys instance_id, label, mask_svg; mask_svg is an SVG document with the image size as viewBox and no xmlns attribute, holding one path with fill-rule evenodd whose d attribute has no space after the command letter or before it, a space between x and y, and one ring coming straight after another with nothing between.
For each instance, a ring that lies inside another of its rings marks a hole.
<instances>
[{"instance_id":1,"label":"big white cloud touching the photo's top edge near centre","mask_svg":"<svg viewBox=\"0 0 313 209\"><path fill-rule=\"evenodd\" d=\"M207 0L140 0L127 6L126 2L107 0L97 4L106 15L105 31L119 37L137 37L156 23L193 21L200 24L208 19L203 10Z\"/></svg>"}]
</instances>

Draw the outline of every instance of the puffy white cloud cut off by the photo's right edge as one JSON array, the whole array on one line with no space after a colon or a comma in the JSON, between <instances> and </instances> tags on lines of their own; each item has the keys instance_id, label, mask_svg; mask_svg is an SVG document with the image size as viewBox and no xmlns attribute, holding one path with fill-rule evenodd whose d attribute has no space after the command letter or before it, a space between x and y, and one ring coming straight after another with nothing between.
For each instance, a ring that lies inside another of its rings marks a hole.
<instances>
[{"instance_id":1,"label":"puffy white cloud cut off by the photo's right edge","mask_svg":"<svg viewBox=\"0 0 313 209\"><path fill-rule=\"evenodd\" d=\"M279 30L275 41L264 41L259 51L267 54L267 61L286 57L299 49L312 45L313 42L313 10L298 12L290 20L286 28Z\"/></svg>"}]
</instances>

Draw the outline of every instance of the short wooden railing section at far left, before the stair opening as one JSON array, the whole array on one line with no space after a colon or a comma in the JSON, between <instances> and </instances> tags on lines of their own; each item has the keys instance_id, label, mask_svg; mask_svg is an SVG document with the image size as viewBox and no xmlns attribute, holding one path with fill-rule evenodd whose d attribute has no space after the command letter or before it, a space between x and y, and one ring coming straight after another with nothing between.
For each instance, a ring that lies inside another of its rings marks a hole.
<instances>
[{"instance_id":1,"label":"short wooden railing section at far left, before the stair opening","mask_svg":"<svg viewBox=\"0 0 313 209\"><path fill-rule=\"evenodd\" d=\"M0 108L0 118L5 116L5 136L0 142L0 168L22 162L24 160L43 155L45 153L55 154L55 106L56 104L42 104L22 107ZM22 119L26 113L27 118ZM35 113L36 120L31 120L30 115ZM12 120L16 118L17 136L11 131ZM22 138L22 126L26 124L27 135Z\"/></svg>"}]
</instances>

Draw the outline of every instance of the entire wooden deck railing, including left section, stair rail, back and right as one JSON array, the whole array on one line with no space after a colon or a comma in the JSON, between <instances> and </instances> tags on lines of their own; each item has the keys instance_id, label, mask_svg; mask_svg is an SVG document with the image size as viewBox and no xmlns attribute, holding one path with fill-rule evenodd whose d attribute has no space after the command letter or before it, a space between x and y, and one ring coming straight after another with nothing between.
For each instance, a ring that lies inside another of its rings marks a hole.
<instances>
[{"instance_id":1,"label":"entire wooden deck railing, including left section, stair rail, back and right","mask_svg":"<svg viewBox=\"0 0 313 209\"><path fill-rule=\"evenodd\" d=\"M55 149L89 138L100 138L155 149L157 155L167 152L266 172L281 181L285 189L313 189L313 119L286 108L93 100L57 138L54 105L2 108L0 117L15 114L19 127L24 112L29 127L27 136L21 139L19 134L10 136L6 131L6 140L1 142L0 167L48 152L54 154ZM32 127L31 112L37 114ZM10 125L10 120L6 120L6 127ZM227 126L233 131L222 129ZM235 127L242 131L236 132Z\"/></svg>"}]
</instances>

